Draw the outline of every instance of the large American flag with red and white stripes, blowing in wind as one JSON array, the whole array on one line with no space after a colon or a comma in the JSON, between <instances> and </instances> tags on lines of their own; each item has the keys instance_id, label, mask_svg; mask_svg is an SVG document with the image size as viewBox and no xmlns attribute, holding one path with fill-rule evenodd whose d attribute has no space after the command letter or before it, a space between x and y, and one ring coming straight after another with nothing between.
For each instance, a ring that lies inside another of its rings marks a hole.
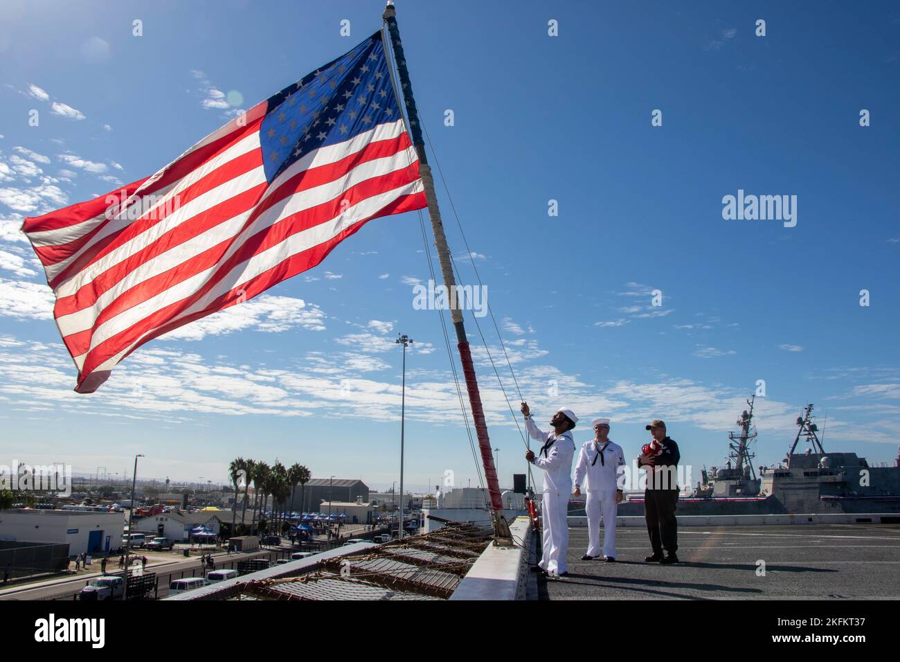
<instances>
[{"instance_id":1,"label":"large American flag with red and white stripes, blowing in wind","mask_svg":"<svg viewBox=\"0 0 900 662\"><path fill-rule=\"evenodd\" d=\"M426 206L381 32L152 177L23 231L93 393L148 340L313 268L365 222Z\"/></svg>"}]
</instances>

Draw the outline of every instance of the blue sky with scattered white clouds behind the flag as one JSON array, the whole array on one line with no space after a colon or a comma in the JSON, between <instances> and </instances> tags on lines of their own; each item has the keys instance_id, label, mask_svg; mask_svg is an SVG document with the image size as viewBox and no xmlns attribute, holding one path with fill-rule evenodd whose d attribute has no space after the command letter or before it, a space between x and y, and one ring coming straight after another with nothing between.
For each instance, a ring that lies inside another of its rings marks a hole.
<instances>
[{"instance_id":1,"label":"blue sky with scattered white clouds behind the flag","mask_svg":"<svg viewBox=\"0 0 900 662\"><path fill-rule=\"evenodd\" d=\"M439 190L463 282L473 284L474 262L538 418L562 405L608 416L631 457L644 422L661 417L685 462L721 464L725 433L763 379L758 463L783 457L809 401L820 427L827 412L826 449L893 461L900 8L510 6L482 3L476 15L400 2L398 20L474 253ZM142 474L216 480L243 455L391 485L393 339L404 332L417 340L407 485L425 489L448 470L455 485L477 484L438 313L412 305L412 286L428 280L416 213L371 222L319 268L145 345L89 395L71 390L76 371L49 287L18 232L23 215L155 172L365 39L382 9L4 3L0 464L114 474L142 452ZM765 37L754 35L760 18ZM135 19L143 36L132 35ZM343 20L350 37L340 36ZM654 109L662 126L651 125ZM797 195L797 226L724 220L722 198L738 189ZM656 289L662 306L652 305ZM490 318L479 322L498 351ZM477 346L471 316L467 324ZM483 349L476 356L509 484L525 469L523 442ZM590 426L575 436L587 440Z\"/></svg>"}]
</instances>

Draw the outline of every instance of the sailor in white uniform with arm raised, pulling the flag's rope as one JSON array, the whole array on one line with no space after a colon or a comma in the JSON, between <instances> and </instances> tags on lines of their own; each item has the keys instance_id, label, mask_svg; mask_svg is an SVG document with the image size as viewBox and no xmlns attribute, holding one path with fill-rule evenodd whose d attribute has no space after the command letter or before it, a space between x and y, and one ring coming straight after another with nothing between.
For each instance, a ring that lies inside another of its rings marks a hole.
<instances>
[{"instance_id":1,"label":"sailor in white uniform with arm raised, pulling the flag's rope","mask_svg":"<svg viewBox=\"0 0 900 662\"><path fill-rule=\"evenodd\" d=\"M572 428L578 417L571 409L554 413L550 424L553 432L541 431L531 418L527 403L522 403L528 434L544 445L535 453L529 450L525 458L544 470L544 494L541 497L544 554L532 570L547 575L563 576L568 572L566 552L569 549L569 494L572 493L572 458L575 441Z\"/></svg>"}]
</instances>

